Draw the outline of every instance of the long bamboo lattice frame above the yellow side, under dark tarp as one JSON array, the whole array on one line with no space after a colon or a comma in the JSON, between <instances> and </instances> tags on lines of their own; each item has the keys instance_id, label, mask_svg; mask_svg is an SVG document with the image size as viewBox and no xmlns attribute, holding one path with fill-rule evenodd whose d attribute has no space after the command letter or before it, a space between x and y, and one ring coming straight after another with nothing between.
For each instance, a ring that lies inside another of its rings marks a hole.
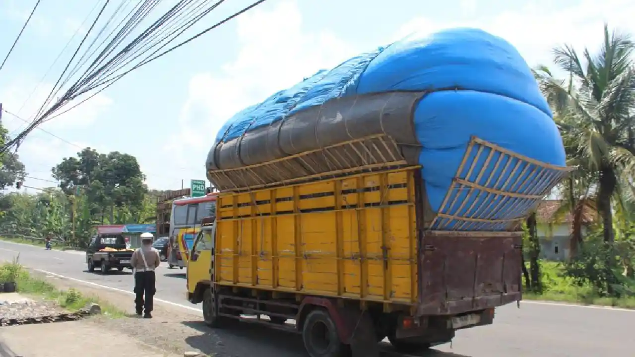
<instances>
[{"instance_id":1,"label":"long bamboo lattice frame above the yellow side, under dark tarp","mask_svg":"<svg viewBox=\"0 0 635 357\"><path fill-rule=\"evenodd\" d=\"M397 143L387 135L373 135L267 163L210 170L208 174L221 191L246 191L403 165L407 163Z\"/></svg>"}]
</instances>

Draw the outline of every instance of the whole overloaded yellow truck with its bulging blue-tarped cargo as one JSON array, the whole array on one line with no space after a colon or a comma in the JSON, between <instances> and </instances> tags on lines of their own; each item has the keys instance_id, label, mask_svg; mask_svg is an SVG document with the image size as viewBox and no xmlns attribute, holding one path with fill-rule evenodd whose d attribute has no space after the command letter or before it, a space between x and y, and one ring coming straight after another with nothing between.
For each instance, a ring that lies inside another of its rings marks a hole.
<instances>
[{"instance_id":1,"label":"whole overloaded yellow truck with its bulging blue-tarped cargo","mask_svg":"<svg viewBox=\"0 0 635 357\"><path fill-rule=\"evenodd\" d=\"M213 327L299 332L311 357L493 323L521 300L523 220L570 172L525 60L478 29L413 34L275 93L225 123L206 169L220 196L188 299Z\"/></svg>"}]
</instances>

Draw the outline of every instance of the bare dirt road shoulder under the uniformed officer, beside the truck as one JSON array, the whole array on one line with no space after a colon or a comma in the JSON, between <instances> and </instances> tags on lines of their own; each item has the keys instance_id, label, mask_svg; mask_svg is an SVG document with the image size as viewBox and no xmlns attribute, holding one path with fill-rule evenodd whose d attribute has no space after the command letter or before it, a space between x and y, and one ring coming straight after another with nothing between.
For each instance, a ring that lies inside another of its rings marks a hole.
<instances>
[{"instance_id":1,"label":"bare dirt road shoulder under the uniformed officer, beside the truck","mask_svg":"<svg viewBox=\"0 0 635 357\"><path fill-rule=\"evenodd\" d=\"M116 330L170 353L182 355L185 351L197 351L215 357L306 355L302 340L295 334L246 323L232 324L230 328L223 330L212 329L206 327L201 316L196 313L159 302L154 304L154 318L140 319L134 314L133 296L130 294L47 276L36 271L32 274L46 279L60 289L76 288L86 296L98 297L122 309L126 312L124 318L91 318L87 321L97 324L99 328Z\"/></svg>"}]
</instances>

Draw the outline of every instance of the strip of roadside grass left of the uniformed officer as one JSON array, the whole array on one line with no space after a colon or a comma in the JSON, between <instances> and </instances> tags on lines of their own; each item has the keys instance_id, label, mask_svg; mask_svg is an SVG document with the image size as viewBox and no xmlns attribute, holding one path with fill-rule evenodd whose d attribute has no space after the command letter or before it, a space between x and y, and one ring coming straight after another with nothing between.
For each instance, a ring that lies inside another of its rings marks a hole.
<instances>
[{"instance_id":1,"label":"strip of roadside grass left of the uniformed officer","mask_svg":"<svg viewBox=\"0 0 635 357\"><path fill-rule=\"evenodd\" d=\"M79 311L89 302L95 302L102 308L102 315L108 318L122 318L125 313L117 307L112 306L108 302L99 300L95 297L86 297L79 290L70 288L69 290L59 290L55 285L49 283L43 278L32 276L26 269L19 266L17 262L0 264L0 281L6 276L8 271L18 271L16 283L18 293L32 297L33 299L42 299L46 301L54 301L58 306L63 307L71 312Z\"/></svg>"}]
</instances>

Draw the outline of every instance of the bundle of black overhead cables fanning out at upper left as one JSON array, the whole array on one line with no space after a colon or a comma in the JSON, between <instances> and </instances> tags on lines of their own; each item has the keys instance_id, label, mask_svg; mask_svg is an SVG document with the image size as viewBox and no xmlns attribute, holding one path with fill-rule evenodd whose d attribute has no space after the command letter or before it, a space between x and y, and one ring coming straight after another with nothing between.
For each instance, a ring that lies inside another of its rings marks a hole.
<instances>
[{"instance_id":1,"label":"bundle of black overhead cables fanning out at upper left","mask_svg":"<svg viewBox=\"0 0 635 357\"><path fill-rule=\"evenodd\" d=\"M131 30L138 27L140 22L142 22L142 20L144 20L152 12L152 10L156 8L157 4L159 4L161 0L144 0L143 2L138 3L137 6L135 6L135 8L133 8L133 10L131 10L128 15L126 15L124 19L114 27L108 36L103 37L102 34L107 30L107 27L109 27L109 25L114 21L116 15L121 12L123 4L129 3L126 0L122 0L121 4L119 4L114 13L112 13L109 20L107 20L106 24L102 25L102 28L99 30L97 36L93 39L88 48L83 48L88 35L93 31L93 28L95 28L99 18L102 17L105 8L110 3L110 0L105 0L104 6L102 6L102 9L93 21L93 24L79 46L77 46L72 58L70 58L69 63L58 78L57 83L55 83L55 86L53 86L53 89L44 101L44 104L41 105L39 111L37 111L36 116L34 116L35 119L31 121L30 125L27 126L27 128L25 128L20 134L3 145L0 152L5 152L14 146L18 147L30 131L36 128L39 124L44 121L57 118L58 116L74 109L78 105L83 104L131 71L134 71L135 69L138 69L139 67L142 67L143 65L148 64L173 50L176 50L180 46L203 36L203 34L206 34L210 30L225 24L225 22L236 18L248 10L251 10L251 8L254 8L258 4L264 3L265 0L253 3L217 24L208 27L207 29L189 37L188 39L185 39L171 48L168 48L168 50L164 50L159 53L159 51L163 50L163 48L172 43L175 39L177 39L177 37L183 34L203 17L208 15L211 11L215 10L218 5L224 1L225 0L218 0L215 2L212 2L211 0L180 0L177 4L172 6L170 10L166 11L166 13L154 21L152 25L143 30L140 35L131 40L130 43L126 44L126 46L123 46L123 48L115 55L111 55L114 53L114 50L121 45L124 38L130 35ZM112 36L113 34L114 36ZM112 37L112 39L110 39L110 37ZM97 43L98 45L95 46ZM93 58L93 55L95 55L98 49L102 48L104 44L106 44L106 46L100 51L97 57ZM137 64L132 63L154 48L156 48L156 50L152 51L149 55L146 55L138 61ZM83 55L79 57L79 60L73 62L80 50L84 50ZM90 65L88 65L88 67L86 67L83 74L79 76L79 79L77 79L75 83L72 84L67 91L65 91L64 95L58 97L51 107L44 110L49 104L51 104L53 98L57 97L58 92L65 86L65 84L69 83L70 79L75 76L77 71L86 65L90 58L93 58L93 61ZM71 65L73 65L72 68ZM131 65L131 68L126 70L126 67L129 65ZM60 112L62 107L84 94L88 94L88 97L84 98L69 109Z\"/></svg>"}]
</instances>

